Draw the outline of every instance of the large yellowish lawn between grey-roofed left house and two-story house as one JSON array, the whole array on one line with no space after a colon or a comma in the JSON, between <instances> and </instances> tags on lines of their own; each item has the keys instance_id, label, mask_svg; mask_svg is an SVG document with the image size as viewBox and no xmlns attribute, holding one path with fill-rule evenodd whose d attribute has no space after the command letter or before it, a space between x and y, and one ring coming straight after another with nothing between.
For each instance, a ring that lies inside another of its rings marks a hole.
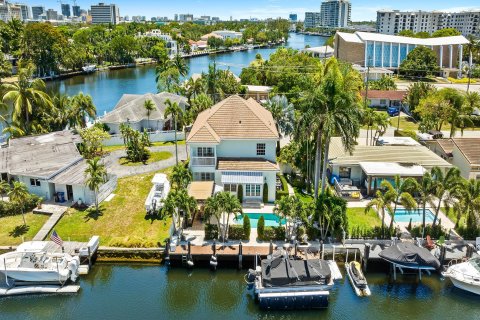
<instances>
[{"instance_id":1,"label":"large yellowish lawn between grey-roofed left house and two-story house","mask_svg":"<svg viewBox=\"0 0 480 320\"><path fill-rule=\"evenodd\" d=\"M169 169L161 172L169 173ZM154 173L118 179L115 197L101 204L100 212L69 209L55 230L63 238L87 241L100 236L103 246L158 247L168 237L170 218L145 215L145 199Z\"/></svg>"}]
</instances>

